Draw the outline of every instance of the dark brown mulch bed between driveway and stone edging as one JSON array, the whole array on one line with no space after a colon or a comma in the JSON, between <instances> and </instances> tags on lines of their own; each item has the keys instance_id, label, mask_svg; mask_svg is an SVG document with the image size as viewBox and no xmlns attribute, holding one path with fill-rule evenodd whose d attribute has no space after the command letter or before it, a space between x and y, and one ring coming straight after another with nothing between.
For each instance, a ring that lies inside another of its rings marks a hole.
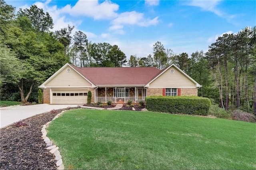
<instances>
[{"instance_id":1,"label":"dark brown mulch bed between driveway and stone edging","mask_svg":"<svg viewBox=\"0 0 256 170\"><path fill-rule=\"evenodd\" d=\"M67 109L52 110L0 129L0 169L56 169L54 154L46 150L41 129L63 110Z\"/></svg>"}]
</instances>

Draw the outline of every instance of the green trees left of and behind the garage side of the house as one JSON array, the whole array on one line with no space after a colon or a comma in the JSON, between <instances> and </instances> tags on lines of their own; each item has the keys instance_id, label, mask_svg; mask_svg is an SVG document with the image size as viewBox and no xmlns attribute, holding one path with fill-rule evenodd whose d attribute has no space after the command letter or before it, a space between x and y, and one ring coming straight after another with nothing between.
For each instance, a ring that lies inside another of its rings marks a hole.
<instances>
[{"instance_id":1,"label":"green trees left of and behind the garage side of the house","mask_svg":"<svg viewBox=\"0 0 256 170\"><path fill-rule=\"evenodd\" d=\"M0 0L0 99L37 101L38 86L65 63L78 67L122 67L117 45L92 43L74 26L52 32L53 20L36 5L19 9Z\"/></svg>"}]
</instances>

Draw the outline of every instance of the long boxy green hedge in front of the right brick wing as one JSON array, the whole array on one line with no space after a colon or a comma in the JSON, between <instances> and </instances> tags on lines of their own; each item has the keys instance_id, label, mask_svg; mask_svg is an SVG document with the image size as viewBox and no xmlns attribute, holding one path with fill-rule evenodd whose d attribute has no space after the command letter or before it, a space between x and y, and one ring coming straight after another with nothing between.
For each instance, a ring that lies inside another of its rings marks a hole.
<instances>
[{"instance_id":1,"label":"long boxy green hedge in front of the right brick wing","mask_svg":"<svg viewBox=\"0 0 256 170\"><path fill-rule=\"evenodd\" d=\"M208 115L210 99L197 96L151 96L146 97L149 111Z\"/></svg>"}]
</instances>

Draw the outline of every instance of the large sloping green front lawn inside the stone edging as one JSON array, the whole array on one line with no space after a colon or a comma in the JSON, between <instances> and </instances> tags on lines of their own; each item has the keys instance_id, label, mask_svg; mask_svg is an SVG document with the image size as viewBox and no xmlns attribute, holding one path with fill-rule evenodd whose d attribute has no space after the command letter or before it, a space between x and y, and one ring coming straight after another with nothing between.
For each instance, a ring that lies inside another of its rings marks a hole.
<instances>
[{"instance_id":1,"label":"large sloping green front lawn inside the stone edging","mask_svg":"<svg viewBox=\"0 0 256 170\"><path fill-rule=\"evenodd\" d=\"M256 169L256 124L76 109L48 127L69 169Z\"/></svg>"}]
</instances>

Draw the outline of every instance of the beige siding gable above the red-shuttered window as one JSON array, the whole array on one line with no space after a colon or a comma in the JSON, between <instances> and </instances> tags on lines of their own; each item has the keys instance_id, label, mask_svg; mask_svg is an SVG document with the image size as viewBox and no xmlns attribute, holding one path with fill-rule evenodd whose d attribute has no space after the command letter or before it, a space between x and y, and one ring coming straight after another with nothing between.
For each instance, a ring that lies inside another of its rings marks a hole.
<instances>
[{"instance_id":1,"label":"beige siding gable above the red-shuttered window","mask_svg":"<svg viewBox=\"0 0 256 170\"><path fill-rule=\"evenodd\" d=\"M174 69L171 74L170 70ZM176 68L170 67L162 75L150 83L149 88L180 88L180 87L196 87L196 84L180 73Z\"/></svg>"}]
</instances>

